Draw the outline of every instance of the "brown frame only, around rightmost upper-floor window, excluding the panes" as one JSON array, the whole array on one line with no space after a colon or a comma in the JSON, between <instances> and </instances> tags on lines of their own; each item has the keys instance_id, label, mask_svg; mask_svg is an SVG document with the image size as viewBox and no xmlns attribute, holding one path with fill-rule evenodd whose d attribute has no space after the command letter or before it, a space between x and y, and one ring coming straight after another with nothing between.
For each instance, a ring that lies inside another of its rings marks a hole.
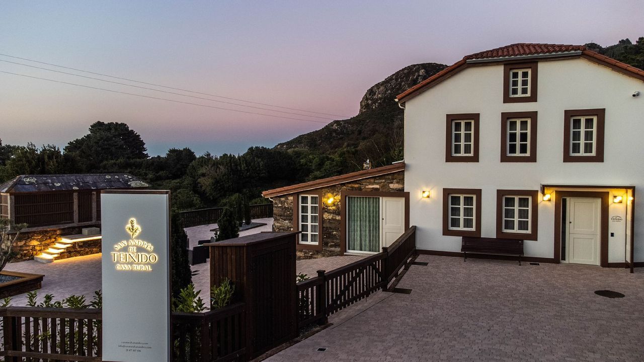
<instances>
[{"instance_id":1,"label":"brown frame only, around rightmost upper-floor window, excluding the panes","mask_svg":"<svg viewBox=\"0 0 644 362\"><path fill-rule=\"evenodd\" d=\"M571 118L578 116L597 117L595 134L594 156L571 155ZM564 111L564 162L603 162L604 134L605 134L605 108L593 108L590 110L565 110Z\"/></svg>"}]
</instances>

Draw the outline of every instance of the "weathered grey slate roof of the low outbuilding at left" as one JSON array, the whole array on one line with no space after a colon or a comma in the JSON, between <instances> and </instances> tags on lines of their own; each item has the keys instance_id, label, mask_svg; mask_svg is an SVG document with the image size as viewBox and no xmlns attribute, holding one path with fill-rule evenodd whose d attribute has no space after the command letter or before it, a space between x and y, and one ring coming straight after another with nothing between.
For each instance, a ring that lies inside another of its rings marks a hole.
<instances>
[{"instance_id":1,"label":"weathered grey slate roof of the low outbuilding at left","mask_svg":"<svg viewBox=\"0 0 644 362\"><path fill-rule=\"evenodd\" d=\"M128 173L90 173L77 175L20 175L0 185L1 193L46 191L133 189L149 187Z\"/></svg>"}]
</instances>

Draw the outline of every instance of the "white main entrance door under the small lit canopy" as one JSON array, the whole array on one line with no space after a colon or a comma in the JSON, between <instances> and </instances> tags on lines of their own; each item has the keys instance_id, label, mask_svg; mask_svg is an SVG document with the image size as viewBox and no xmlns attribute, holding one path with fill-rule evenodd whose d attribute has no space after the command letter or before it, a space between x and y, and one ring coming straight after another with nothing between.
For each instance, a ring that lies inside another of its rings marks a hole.
<instances>
[{"instance_id":1,"label":"white main entrance door under the small lit canopy","mask_svg":"<svg viewBox=\"0 0 644 362\"><path fill-rule=\"evenodd\" d=\"M568 198L567 260L600 265L601 198Z\"/></svg>"}]
</instances>

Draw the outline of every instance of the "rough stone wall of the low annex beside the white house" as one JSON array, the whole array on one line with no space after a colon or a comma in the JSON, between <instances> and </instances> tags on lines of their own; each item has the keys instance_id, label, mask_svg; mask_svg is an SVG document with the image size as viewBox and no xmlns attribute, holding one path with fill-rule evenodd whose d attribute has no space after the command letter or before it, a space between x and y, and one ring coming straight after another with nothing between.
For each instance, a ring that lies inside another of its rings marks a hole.
<instances>
[{"instance_id":1,"label":"rough stone wall of the low annex beside the white house","mask_svg":"<svg viewBox=\"0 0 644 362\"><path fill-rule=\"evenodd\" d=\"M363 178L345 184L321 187L310 191L333 195L337 203L332 207L324 204L322 225L322 251L298 250L299 259L322 258L340 255L340 191L404 191L404 171L387 175ZM306 193L304 191L303 193ZM275 231L293 231L294 194L275 196L273 200L273 227Z\"/></svg>"}]
</instances>

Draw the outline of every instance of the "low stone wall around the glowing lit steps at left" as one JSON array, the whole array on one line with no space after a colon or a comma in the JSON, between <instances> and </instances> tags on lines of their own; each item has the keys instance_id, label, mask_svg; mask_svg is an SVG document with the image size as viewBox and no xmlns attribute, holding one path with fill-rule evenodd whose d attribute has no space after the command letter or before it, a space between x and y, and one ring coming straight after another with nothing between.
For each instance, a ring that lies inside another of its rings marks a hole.
<instances>
[{"instance_id":1,"label":"low stone wall around the glowing lit steps at left","mask_svg":"<svg viewBox=\"0 0 644 362\"><path fill-rule=\"evenodd\" d=\"M50 229L40 231L21 232L18 240L14 243L14 251L17 253L13 262L33 259L34 256L48 249L55 242L61 240L61 236L81 234L81 227L64 227L61 229ZM97 245L95 245L95 243ZM84 249L86 247L86 249ZM89 242L74 243L70 251L61 253L57 259L71 258L72 256L89 255L100 252L100 240L90 240ZM67 256L63 256L67 254Z\"/></svg>"}]
</instances>

